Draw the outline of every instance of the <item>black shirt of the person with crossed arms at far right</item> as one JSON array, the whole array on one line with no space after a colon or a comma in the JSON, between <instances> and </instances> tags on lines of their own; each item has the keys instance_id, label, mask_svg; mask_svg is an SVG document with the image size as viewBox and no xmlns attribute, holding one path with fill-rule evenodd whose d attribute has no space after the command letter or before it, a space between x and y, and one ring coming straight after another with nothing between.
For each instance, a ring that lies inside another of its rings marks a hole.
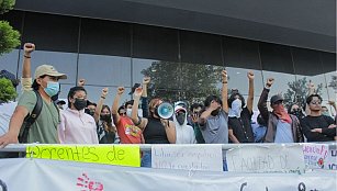
<instances>
[{"instance_id":1,"label":"black shirt of the person with crossed arms at far right","mask_svg":"<svg viewBox=\"0 0 337 191\"><path fill-rule=\"evenodd\" d=\"M330 124L334 124L334 119L325 115L307 115L301 120L301 126L307 142L334 141L334 136L336 136L336 128L328 128ZM322 133L311 132L314 128L322 128Z\"/></svg>"}]
</instances>

